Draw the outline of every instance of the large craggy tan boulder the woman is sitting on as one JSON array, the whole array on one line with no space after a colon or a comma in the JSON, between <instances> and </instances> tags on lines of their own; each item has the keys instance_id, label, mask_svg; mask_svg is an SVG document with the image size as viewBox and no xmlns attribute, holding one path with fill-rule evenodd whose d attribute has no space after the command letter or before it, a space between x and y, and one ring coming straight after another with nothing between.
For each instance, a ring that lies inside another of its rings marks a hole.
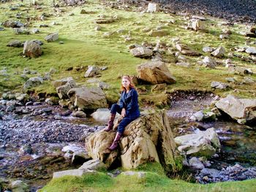
<instances>
[{"instance_id":1,"label":"large craggy tan boulder the woman is sitting on","mask_svg":"<svg viewBox=\"0 0 256 192\"><path fill-rule=\"evenodd\" d=\"M110 147L116 133L99 131L86 139L86 149L91 158L103 161L110 166L120 155L121 166L132 169L147 162L160 162L168 172L177 167L176 144L165 111L143 112L140 118L132 121L116 150Z\"/></svg>"}]
</instances>

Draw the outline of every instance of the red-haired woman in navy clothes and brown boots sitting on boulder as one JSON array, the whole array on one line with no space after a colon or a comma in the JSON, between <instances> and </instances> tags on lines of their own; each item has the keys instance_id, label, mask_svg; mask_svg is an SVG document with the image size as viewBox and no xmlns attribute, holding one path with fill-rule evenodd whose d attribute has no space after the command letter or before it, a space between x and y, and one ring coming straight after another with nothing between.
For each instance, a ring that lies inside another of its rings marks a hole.
<instances>
[{"instance_id":1,"label":"red-haired woman in navy clothes and brown boots sitting on boulder","mask_svg":"<svg viewBox=\"0 0 256 192\"><path fill-rule=\"evenodd\" d=\"M135 90L135 85L132 84L131 78L126 75L122 77L121 81L121 98L119 104L113 104L110 110L110 119L108 121L108 127L104 131L110 131L113 128L113 122L116 117L116 112L121 114L123 119L118 125L118 130L116 137L110 147L110 150L115 150L118 146L118 141L120 140L122 134L124 133L124 128L132 122L132 120L140 117L140 110L138 104L138 93Z\"/></svg>"}]
</instances>

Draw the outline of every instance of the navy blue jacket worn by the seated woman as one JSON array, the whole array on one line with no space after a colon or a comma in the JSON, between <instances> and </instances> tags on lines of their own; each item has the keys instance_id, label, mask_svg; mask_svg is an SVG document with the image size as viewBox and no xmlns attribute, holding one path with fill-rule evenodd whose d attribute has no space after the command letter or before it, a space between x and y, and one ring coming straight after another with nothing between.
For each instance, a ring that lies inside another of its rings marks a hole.
<instances>
[{"instance_id":1,"label":"navy blue jacket worn by the seated woman","mask_svg":"<svg viewBox=\"0 0 256 192\"><path fill-rule=\"evenodd\" d=\"M134 88L131 88L127 94L126 94L126 91L121 92L119 105L121 108L124 108L126 110L125 117L127 118L140 117L138 93Z\"/></svg>"}]
</instances>

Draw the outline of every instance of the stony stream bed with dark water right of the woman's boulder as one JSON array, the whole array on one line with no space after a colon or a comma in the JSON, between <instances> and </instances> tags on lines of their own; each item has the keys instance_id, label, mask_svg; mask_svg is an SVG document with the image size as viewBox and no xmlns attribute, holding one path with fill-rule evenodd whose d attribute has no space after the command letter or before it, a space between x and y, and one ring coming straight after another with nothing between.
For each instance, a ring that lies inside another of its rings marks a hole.
<instances>
[{"instance_id":1,"label":"stony stream bed with dark water right of the woman's boulder","mask_svg":"<svg viewBox=\"0 0 256 192\"><path fill-rule=\"evenodd\" d=\"M239 125L230 119L223 120L221 118L210 122L189 120L189 117L198 109L206 109L212 101L218 99L219 97L213 93L197 91L172 93L171 107L167 111L167 115L170 120L170 127L173 128L174 137L195 134L211 127L216 129L221 143L220 151L208 158L208 161L198 161L201 165L196 164L195 167L198 169L190 167L198 183L255 178L255 126ZM188 156L189 158L191 157Z\"/></svg>"}]
</instances>

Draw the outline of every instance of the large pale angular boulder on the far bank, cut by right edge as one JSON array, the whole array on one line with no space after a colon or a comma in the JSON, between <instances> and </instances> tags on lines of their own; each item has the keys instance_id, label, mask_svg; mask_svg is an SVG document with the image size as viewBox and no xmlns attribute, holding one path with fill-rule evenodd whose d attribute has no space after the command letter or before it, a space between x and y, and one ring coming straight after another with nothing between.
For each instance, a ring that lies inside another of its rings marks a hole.
<instances>
[{"instance_id":1,"label":"large pale angular boulder on the far bank, cut by right edge","mask_svg":"<svg viewBox=\"0 0 256 192\"><path fill-rule=\"evenodd\" d=\"M228 95L215 104L219 110L230 115L235 120L256 120L256 99L238 99Z\"/></svg>"}]
</instances>

